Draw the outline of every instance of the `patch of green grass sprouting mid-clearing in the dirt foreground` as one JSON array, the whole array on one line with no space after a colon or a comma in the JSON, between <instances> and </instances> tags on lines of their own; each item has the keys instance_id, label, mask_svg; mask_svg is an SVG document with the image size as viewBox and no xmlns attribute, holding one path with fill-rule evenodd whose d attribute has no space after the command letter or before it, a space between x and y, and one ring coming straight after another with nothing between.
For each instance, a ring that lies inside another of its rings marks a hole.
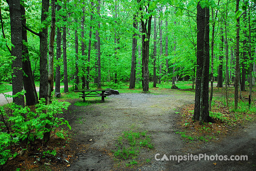
<instances>
[{"instance_id":1,"label":"patch of green grass sprouting mid-clearing in the dirt foreground","mask_svg":"<svg viewBox=\"0 0 256 171\"><path fill-rule=\"evenodd\" d=\"M115 150L112 150L114 160L126 167L133 167L140 162L149 162L148 159L140 161L137 158L140 156L141 150L154 148L147 131L136 132L132 130L122 132L122 135L117 138L115 146Z\"/></svg>"}]
</instances>

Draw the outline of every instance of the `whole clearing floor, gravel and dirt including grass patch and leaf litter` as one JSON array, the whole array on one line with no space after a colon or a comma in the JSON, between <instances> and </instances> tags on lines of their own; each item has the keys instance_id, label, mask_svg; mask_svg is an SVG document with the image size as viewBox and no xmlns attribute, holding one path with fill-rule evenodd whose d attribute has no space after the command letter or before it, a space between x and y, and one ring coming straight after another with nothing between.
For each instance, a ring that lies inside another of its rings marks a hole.
<instances>
[{"instance_id":1,"label":"whole clearing floor, gravel and dirt including grass patch and leaf litter","mask_svg":"<svg viewBox=\"0 0 256 171\"><path fill-rule=\"evenodd\" d=\"M221 93L215 90L214 97L221 97ZM233 127L217 121L213 124L216 128L209 133L212 134L211 138L208 137L207 140L201 138L206 135L192 138L190 135L193 133L186 133L188 130L183 119L187 114L184 109L190 108L194 103L194 92L155 88L151 94L120 93L107 97L105 102L88 100L82 106L76 105L77 102L81 104L81 99L65 101L71 105L61 117L69 121L72 130L68 131L66 140L53 139L49 143L47 148L54 147L57 151L55 160L41 160L40 156L25 154L27 157L24 161L24 156L16 156L16 162L20 162L21 168L52 171L256 169L255 120ZM250 117L255 118L254 115ZM187 125L188 129L195 130L195 126L191 125ZM217 135L217 131L220 134ZM228 157L247 155L248 160L156 161L155 154L159 154L156 156L158 159L164 154L168 158L170 155L188 154L218 154Z\"/></svg>"}]
</instances>

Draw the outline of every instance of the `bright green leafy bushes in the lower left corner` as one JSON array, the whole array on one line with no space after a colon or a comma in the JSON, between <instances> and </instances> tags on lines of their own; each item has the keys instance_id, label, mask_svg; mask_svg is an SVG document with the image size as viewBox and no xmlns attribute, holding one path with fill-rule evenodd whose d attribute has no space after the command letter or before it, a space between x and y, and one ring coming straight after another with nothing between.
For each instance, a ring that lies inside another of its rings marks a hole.
<instances>
[{"instance_id":1,"label":"bright green leafy bushes in the lower left corner","mask_svg":"<svg viewBox=\"0 0 256 171\"><path fill-rule=\"evenodd\" d=\"M59 129L61 125L71 126L64 118L58 118L57 115L63 114L62 109L67 110L70 104L68 102L58 102L52 99L52 103L45 104L45 100L39 100L39 104L32 112L29 107L21 107L11 104L8 110L0 107L0 165L3 165L10 157L16 154L11 152L13 144L26 142L30 147L35 140L41 140L45 132L50 132L51 137L57 135L64 138L63 130ZM45 125L48 124L49 128ZM45 154L55 155L56 151L45 152Z\"/></svg>"}]
</instances>

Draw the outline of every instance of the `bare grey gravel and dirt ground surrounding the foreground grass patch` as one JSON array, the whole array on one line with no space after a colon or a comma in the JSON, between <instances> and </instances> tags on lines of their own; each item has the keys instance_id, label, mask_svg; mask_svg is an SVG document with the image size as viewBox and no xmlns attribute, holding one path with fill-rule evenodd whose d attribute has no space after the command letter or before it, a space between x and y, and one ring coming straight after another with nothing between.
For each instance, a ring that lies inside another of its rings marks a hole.
<instances>
[{"instance_id":1,"label":"bare grey gravel and dirt ground surrounding the foreground grass patch","mask_svg":"<svg viewBox=\"0 0 256 171\"><path fill-rule=\"evenodd\" d=\"M72 126L78 145L87 148L77 154L77 161L66 170L252 170L255 169L256 124L239 130L222 141L201 146L184 142L177 131L179 107L194 102L191 92L166 90L166 94L120 94L110 96L104 103L87 107L71 105L64 114ZM153 150L144 150L134 168L118 166L110 154L123 131L148 131L154 144ZM91 141L90 141L91 140ZM187 155L248 155L248 161L228 161L213 165L212 161L156 161L159 156ZM145 162L150 159L150 162ZM254 166L253 166L254 162ZM226 169L227 168L227 169Z\"/></svg>"}]
</instances>

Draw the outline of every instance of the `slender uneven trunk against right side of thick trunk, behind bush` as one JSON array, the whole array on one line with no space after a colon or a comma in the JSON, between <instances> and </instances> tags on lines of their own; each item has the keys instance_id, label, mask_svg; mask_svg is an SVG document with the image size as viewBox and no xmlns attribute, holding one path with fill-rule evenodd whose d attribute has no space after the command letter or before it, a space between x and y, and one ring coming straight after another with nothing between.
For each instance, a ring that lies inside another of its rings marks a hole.
<instances>
[{"instance_id":1,"label":"slender uneven trunk against right side of thick trunk, behind bush","mask_svg":"<svg viewBox=\"0 0 256 171\"><path fill-rule=\"evenodd\" d=\"M53 59L54 59L54 40L55 40L55 1L53 1L53 0L51 1L51 9L52 9L52 15L51 15L52 22L51 22L50 42L49 42L49 67L48 67L48 98L47 98L47 104L50 104L50 100L52 99L53 83L54 83ZM48 136L48 140L49 140L50 133L47 136Z\"/></svg>"}]
</instances>

